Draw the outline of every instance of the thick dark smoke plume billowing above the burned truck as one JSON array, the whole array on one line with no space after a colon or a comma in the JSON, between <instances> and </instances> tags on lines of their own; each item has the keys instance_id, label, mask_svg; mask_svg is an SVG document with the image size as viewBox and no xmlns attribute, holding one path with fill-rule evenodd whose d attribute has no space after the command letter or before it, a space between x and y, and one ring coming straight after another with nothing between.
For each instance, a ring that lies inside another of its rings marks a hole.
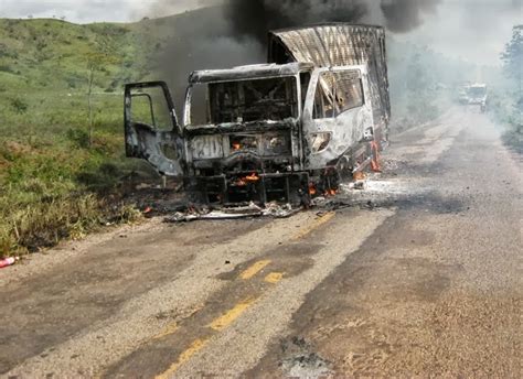
<instances>
[{"instance_id":1,"label":"thick dark smoke plume billowing above the burned truck","mask_svg":"<svg viewBox=\"0 0 523 379\"><path fill-rule=\"evenodd\" d=\"M424 14L434 12L440 1L222 0L217 7L181 14L171 21L164 19L172 23L173 37L157 57L158 76L170 82L180 99L186 77L194 69L265 62L269 30L320 22L364 22L407 32L421 23ZM177 7L177 0L159 0L152 10L167 14Z\"/></svg>"}]
</instances>

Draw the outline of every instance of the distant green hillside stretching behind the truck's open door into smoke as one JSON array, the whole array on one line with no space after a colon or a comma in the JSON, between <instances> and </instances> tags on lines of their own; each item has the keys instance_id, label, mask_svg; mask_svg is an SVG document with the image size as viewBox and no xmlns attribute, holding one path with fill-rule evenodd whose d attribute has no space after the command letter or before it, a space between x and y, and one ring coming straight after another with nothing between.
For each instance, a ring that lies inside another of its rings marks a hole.
<instances>
[{"instance_id":1,"label":"distant green hillside stretching behind the truck's open door into smoke","mask_svg":"<svg viewBox=\"0 0 523 379\"><path fill-rule=\"evenodd\" d=\"M209 33L224 33L220 12L218 8L200 9L128 24L0 19L0 91L85 93L87 64L95 54L108 57L96 76L98 89L121 90L125 83L154 76L159 67L177 67L168 58L175 54L164 50L172 47L173 41L191 43L200 20L212 20L205 28Z\"/></svg>"}]
</instances>

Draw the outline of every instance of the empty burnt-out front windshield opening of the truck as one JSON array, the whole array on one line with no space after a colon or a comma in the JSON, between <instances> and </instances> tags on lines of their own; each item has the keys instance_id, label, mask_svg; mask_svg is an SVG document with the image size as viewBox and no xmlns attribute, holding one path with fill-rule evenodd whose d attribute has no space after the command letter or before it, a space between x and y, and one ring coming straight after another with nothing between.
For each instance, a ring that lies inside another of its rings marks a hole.
<instances>
[{"instance_id":1,"label":"empty burnt-out front windshield opening of the truck","mask_svg":"<svg viewBox=\"0 0 523 379\"><path fill-rule=\"evenodd\" d=\"M192 126L280 121L298 116L293 76L211 83L192 88Z\"/></svg>"}]
</instances>

